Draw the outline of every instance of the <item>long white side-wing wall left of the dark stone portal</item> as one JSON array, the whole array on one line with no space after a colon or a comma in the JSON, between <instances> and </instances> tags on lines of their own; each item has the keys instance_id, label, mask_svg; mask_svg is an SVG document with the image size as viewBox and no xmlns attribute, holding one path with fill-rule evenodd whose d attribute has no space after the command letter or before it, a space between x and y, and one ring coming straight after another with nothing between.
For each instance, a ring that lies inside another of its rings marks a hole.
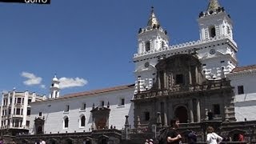
<instances>
[{"instance_id":1,"label":"long white side-wing wall left of the dark stone portal","mask_svg":"<svg viewBox=\"0 0 256 144\"><path fill-rule=\"evenodd\" d=\"M134 88L126 90L116 90L113 92L105 92L101 94L90 94L86 96L79 96L76 98L58 98L55 100L46 100L45 102L34 102L31 105L31 120L30 121L30 133L34 134L34 119L39 117L39 112L42 112L45 117L44 131L46 134L56 133L68 133L90 131L92 125L92 110L93 103L96 106L101 101L110 102L110 118L109 126L116 126L116 129L122 129L126 122L126 115L129 115L129 122L131 126L134 126L134 106L130 100L134 94ZM118 106L120 98L125 98L125 106ZM80 110L82 103L86 102L86 110ZM70 106L69 112L64 112L65 106ZM81 114L86 116L86 126L79 128L79 118ZM67 116L70 120L69 127L63 128L63 118Z\"/></svg>"}]
</instances>

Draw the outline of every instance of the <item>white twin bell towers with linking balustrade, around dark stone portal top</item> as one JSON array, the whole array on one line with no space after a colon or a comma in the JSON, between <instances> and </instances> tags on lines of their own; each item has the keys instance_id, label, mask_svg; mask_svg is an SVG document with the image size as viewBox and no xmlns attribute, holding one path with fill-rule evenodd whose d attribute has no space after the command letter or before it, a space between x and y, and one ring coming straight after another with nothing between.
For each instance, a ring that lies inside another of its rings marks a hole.
<instances>
[{"instance_id":1,"label":"white twin bell towers with linking balustrade, around dark stone portal top","mask_svg":"<svg viewBox=\"0 0 256 144\"><path fill-rule=\"evenodd\" d=\"M238 65L232 21L218 1L210 1L206 12L199 14L198 25L198 41L169 46L166 30L160 26L154 10L151 11L147 26L138 31L138 53L134 54L138 78L135 92L150 89L156 80L158 60L172 55L197 53L203 74L211 80L224 77Z\"/></svg>"}]
</instances>

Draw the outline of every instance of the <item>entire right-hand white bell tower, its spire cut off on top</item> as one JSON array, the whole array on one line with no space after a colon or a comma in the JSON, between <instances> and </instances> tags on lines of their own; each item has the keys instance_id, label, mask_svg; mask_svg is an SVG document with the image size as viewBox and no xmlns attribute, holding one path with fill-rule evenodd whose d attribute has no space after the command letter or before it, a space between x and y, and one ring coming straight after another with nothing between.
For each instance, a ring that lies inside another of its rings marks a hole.
<instances>
[{"instance_id":1,"label":"entire right-hand white bell tower, its spire cut off on top","mask_svg":"<svg viewBox=\"0 0 256 144\"><path fill-rule=\"evenodd\" d=\"M218 0L209 0L206 11L198 18L200 42L198 58L207 79L225 78L238 64L238 46L233 38L230 15Z\"/></svg>"}]
</instances>

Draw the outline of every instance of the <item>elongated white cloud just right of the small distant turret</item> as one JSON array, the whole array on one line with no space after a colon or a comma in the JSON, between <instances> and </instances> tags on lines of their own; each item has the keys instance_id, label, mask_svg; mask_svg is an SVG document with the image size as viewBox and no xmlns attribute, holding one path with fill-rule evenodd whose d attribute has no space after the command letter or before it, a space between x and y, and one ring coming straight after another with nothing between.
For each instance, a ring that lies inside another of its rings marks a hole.
<instances>
[{"instance_id":1,"label":"elongated white cloud just right of the small distant turret","mask_svg":"<svg viewBox=\"0 0 256 144\"><path fill-rule=\"evenodd\" d=\"M69 87L85 86L88 82L83 78L59 78L59 88L66 89Z\"/></svg>"}]
</instances>

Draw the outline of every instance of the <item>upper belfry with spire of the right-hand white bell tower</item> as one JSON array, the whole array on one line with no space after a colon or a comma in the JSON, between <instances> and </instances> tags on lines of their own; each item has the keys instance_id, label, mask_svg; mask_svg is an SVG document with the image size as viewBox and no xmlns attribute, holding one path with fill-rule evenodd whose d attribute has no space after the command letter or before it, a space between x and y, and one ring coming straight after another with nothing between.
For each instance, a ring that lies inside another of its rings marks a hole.
<instances>
[{"instance_id":1,"label":"upper belfry with spire of the right-hand white bell tower","mask_svg":"<svg viewBox=\"0 0 256 144\"><path fill-rule=\"evenodd\" d=\"M210 0L207 10L199 14L198 23L201 41L222 37L233 39L230 15L226 14L218 0Z\"/></svg>"}]
</instances>

